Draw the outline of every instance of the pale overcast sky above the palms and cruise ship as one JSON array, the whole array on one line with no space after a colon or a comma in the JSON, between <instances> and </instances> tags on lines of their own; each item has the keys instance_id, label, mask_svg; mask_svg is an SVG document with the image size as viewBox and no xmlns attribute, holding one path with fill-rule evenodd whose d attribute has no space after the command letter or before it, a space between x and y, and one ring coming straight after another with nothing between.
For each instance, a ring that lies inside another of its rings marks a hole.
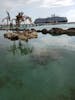
<instances>
[{"instance_id":1,"label":"pale overcast sky above the palms and cruise ship","mask_svg":"<svg viewBox=\"0 0 75 100\"><path fill-rule=\"evenodd\" d=\"M6 10L11 17L23 11L34 20L38 17L49 17L51 14L66 16L75 21L75 0L0 0L0 21L6 17Z\"/></svg>"}]
</instances>

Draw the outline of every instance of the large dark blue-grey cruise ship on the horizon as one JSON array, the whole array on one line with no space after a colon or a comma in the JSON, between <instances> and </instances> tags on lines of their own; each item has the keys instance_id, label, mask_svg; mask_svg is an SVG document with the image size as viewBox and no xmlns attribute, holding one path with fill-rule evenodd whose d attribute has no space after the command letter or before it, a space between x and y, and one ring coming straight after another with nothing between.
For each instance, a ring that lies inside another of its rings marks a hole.
<instances>
[{"instance_id":1,"label":"large dark blue-grey cruise ship on the horizon","mask_svg":"<svg viewBox=\"0 0 75 100\"><path fill-rule=\"evenodd\" d=\"M52 15L51 17L47 18L37 18L35 19L35 24L48 24L48 23L67 23L68 19L66 17L60 17Z\"/></svg>"}]
</instances>

